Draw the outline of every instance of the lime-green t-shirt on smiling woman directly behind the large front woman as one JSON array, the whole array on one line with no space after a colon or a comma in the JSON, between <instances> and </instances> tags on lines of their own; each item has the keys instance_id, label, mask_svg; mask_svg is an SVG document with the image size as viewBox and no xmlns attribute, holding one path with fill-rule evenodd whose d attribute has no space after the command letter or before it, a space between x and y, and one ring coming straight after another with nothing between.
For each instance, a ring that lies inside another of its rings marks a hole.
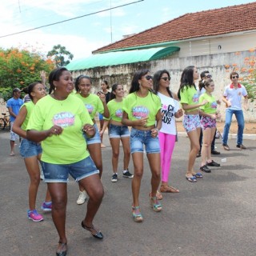
<instances>
[{"instance_id":1,"label":"lime-green t-shirt on smiling woman directly behind the large front woman","mask_svg":"<svg viewBox=\"0 0 256 256\"><path fill-rule=\"evenodd\" d=\"M100 98L98 98L98 95L89 94L88 97L82 97L81 94L75 94L75 96L82 99L82 102L90 114L90 118L94 119L97 112L101 114L104 113L104 106Z\"/></svg>"}]
</instances>

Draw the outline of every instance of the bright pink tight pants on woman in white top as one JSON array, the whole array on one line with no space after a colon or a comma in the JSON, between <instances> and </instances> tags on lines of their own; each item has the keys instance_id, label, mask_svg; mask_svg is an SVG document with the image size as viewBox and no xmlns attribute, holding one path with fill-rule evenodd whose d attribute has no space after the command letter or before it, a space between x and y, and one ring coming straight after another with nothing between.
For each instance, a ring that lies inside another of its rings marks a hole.
<instances>
[{"instance_id":1,"label":"bright pink tight pants on woman in white top","mask_svg":"<svg viewBox=\"0 0 256 256\"><path fill-rule=\"evenodd\" d=\"M159 132L158 138L161 150L162 182L168 182L171 156L174 151L176 136L172 134L164 134L162 132Z\"/></svg>"}]
</instances>

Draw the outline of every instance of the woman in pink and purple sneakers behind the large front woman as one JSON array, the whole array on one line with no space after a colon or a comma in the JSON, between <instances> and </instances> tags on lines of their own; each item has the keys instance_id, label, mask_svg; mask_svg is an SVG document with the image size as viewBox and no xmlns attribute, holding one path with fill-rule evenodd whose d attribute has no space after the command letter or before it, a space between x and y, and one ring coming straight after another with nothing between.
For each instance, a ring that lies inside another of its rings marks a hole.
<instances>
[{"instance_id":1,"label":"woman in pink and purple sneakers behind the large front woman","mask_svg":"<svg viewBox=\"0 0 256 256\"><path fill-rule=\"evenodd\" d=\"M40 168L38 161L41 160L42 147L40 143L32 142L26 138L26 126L30 119L30 114L34 110L34 106L37 102L46 96L45 86L40 82L31 83L27 88L27 94L30 97L30 102L26 102L22 105L18 116L15 119L13 130L14 133L18 134L22 138L20 146L20 154L24 158L26 170L30 175L30 186L29 186L29 207L27 211L27 218L33 222L41 222L43 217L38 214L36 210L36 198L38 194L38 186L40 184ZM45 202L42 203L42 210L51 210L51 198L49 191L46 192Z\"/></svg>"}]
</instances>

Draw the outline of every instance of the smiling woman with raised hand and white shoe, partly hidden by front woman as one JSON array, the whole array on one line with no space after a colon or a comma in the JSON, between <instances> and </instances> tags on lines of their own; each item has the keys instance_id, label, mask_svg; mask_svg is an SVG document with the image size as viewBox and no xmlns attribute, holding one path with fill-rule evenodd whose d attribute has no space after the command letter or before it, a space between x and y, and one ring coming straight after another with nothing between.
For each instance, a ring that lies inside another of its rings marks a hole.
<instances>
[{"instance_id":1,"label":"smiling woman with raised hand and white shoe, partly hidden by front woman","mask_svg":"<svg viewBox=\"0 0 256 256\"><path fill-rule=\"evenodd\" d=\"M110 112L106 106L106 95L103 93L91 94L91 79L86 75L80 75L74 83L75 90L77 91L75 96L80 98L84 103L86 109L90 114L91 120L94 122L94 128L96 133L93 138L86 138L87 149L91 158L94 160L95 166L99 170L99 176L102 177L102 149L101 149L101 137L98 131L98 126L95 122L95 115L102 114L104 118L110 117ZM79 185L79 196L77 200L78 205L82 205L86 201L86 190Z\"/></svg>"}]
</instances>

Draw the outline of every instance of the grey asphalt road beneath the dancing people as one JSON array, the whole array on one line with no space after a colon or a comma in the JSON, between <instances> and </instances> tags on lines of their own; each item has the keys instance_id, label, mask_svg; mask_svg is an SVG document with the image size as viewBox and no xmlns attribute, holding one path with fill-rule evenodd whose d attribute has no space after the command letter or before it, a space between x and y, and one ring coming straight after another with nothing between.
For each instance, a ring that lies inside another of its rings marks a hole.
<instances>
[{"instance_id":1,"label":"grey asphalt road beneath the dancing people","mask_svg":"<svg viewBox=\"0 0 256 256\"><path fill-rule=\"evenodd\" d=\"M145 156L140 202L144 222L135 223L131 216L130 179L110 182L111 148L107 134L102 150L105 197L94 220L104 234L98 241L80 226L86 204L78 206L78 185L70 179L66 234L69 256L146 256L146 255L255 255L255 148L254 140L245 140L247 150L235 149L230 139L229 152L216 140L220 168L203 174L197 183L186 181L189 140L176 143L170 172L170 184L179 194L163 194L163 210L155 213L149 204L150 169ZM43 214L43 222L26 218L28 207L28 174L18 154L9 156L9 133L0 131L0 255L55 255L58 235L51 214ZM226 158L226 162L221 162ZM199 167L197 158L196 166ZM122 170L120 159L119 174ZM130 171L133 164L130 162ZM46 184L38 190L38 209L45 197Z\"/></svg>"}]
</instances>

